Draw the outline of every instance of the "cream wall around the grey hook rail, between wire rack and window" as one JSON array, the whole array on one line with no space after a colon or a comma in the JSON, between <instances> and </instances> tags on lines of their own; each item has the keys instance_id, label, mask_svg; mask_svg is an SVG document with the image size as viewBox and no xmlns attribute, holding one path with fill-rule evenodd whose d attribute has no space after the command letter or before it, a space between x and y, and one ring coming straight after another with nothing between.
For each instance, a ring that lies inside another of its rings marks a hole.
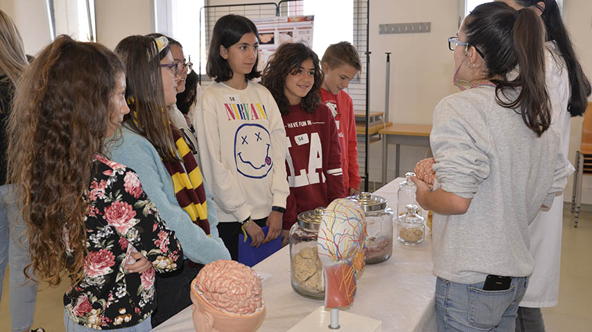
<instances>
[{"instance_id":1,"label":"cream wall around the grey hook rail, between wire rack and window","mask_svg":"<svg viewBox=\"0 0 592 332\"><path fill-rule=\"evenodd\" d=\"M379 24L431 22L430 33L378 34ZM384 111L385 52L390 64L389 121L431 124L437 103L457 91L448 37L458 30L457 1L370 1L370 110ZM381 181L381 142L370 146L370 181ZM361 151L360 151L361 152ZM412 171L428 149L401 146L400 174ZM394 146L388 152L388 179L394 178Z\"/></svg>"}]
</instances>

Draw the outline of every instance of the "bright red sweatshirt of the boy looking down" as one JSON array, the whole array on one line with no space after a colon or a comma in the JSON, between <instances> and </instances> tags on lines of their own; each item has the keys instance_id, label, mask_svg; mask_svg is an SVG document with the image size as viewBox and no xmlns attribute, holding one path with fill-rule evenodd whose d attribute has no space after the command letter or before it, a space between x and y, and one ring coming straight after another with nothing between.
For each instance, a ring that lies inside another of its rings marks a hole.
<instances>
[{"instance_id":1,"label":"bright red sweatshirt of the boy looking down","mask_svg":"<svg viewBox=\"0 0 592 332\"><path fill-rule=\"evenodd\" d=\"M358 171L358 140L356 139L354 102L351 101L349 94L343 90L335 95L321 89L321 98L335 116L341 146L343 184L345 185L345 193L349 195L349 189L359 190L360 182L362 182Z\"/></svg>"}]
</instances>

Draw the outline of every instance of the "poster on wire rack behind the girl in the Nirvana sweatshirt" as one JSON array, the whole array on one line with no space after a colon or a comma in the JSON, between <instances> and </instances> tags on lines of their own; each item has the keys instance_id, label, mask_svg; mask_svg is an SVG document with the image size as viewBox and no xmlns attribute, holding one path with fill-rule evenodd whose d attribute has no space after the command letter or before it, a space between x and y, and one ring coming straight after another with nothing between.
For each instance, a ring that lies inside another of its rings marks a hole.
<instances>
[{"instance_id":1,"label":"poster on wire rack behind the girl in the Nirvana sweatshirt","mask_svg":"<svg viewBox=\"0 0 592 332\"><path fill-rule=\"evenodd\" d=\"M259 30L259 71L263 71L269 57L281 44L302 42L313 48L314 15L263 17L252 21Z\"/></svg>"}]
</instances>

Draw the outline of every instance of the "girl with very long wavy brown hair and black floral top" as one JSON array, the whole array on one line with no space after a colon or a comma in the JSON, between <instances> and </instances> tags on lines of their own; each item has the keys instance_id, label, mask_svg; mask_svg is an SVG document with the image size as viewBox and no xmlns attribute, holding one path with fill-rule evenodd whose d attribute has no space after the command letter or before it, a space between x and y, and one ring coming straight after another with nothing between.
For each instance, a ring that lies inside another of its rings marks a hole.
<instances>
[{"instance_id":1,"label":"girl with very long wavy brown hair and black floral top","mask_svg":"<svg viewBox=\"0 0 592 332\"><path fill-rule=\"evenodd\" d=\"M115 53L62 35L21 77L10 114L8 170L30 265L50 286L67 271L66 331L149 331L155 272L182 262L137 174L102 155L129 112L124 93Z\"/></svg>"}]
</instances>

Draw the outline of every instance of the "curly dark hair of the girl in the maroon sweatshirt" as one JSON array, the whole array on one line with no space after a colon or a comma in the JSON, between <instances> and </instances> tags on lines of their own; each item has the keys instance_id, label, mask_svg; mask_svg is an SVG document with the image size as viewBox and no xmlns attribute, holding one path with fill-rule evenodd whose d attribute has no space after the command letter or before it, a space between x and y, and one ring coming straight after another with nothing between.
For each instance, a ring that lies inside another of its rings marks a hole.
<instances>
[{"instance_id":1,"label":"curly dark hair of the girl in the maroon sweatshirt","mask_svg":"<svg viewBox=\"0 0 592 332\"><path fill-rule=\"evenodd\" d=\"M288 74L297 73L302 63L308 59L312 60L315 65L315 82L311 91L308 91L308 94L302 98L300 105L305 112L312 113L315 112L321 101L319 89L323 82L323 73L317 53L302 43L281 44L263 69L261 84L268 88L275 98L281 115L286 115L290 111L290 102L284 94L286 77Z\"/></svg>"}]
</instances>

